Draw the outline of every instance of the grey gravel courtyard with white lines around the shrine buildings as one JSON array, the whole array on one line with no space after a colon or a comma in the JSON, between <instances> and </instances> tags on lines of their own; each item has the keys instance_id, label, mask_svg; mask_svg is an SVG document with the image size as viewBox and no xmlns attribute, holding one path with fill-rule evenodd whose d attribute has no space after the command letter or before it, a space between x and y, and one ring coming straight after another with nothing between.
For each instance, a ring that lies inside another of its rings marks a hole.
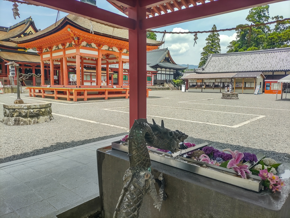
<instances>
[{"instance_id":1,"label":"grey gravel courtyard with white lines around the shrine buildings","mask_svg":"<svg viewBox=\"0 0 290 218\"><path fill-rule=\"evenodd\" d=\"M272 94L239 94L239 100L221 99L220 93L181 91L150 91L149 96L148 121L153 118L160 124L163 119L166 128L188 134L186 142L263 152L290 162L290 101L275 101ZM55 119L28 126L0 122L0 163L122 136L129 130L128 99L68 103L27 94L21 98L52 102ZM2 94L0 104L15 99L15 94Z\"/></svg>"}]
</instances>

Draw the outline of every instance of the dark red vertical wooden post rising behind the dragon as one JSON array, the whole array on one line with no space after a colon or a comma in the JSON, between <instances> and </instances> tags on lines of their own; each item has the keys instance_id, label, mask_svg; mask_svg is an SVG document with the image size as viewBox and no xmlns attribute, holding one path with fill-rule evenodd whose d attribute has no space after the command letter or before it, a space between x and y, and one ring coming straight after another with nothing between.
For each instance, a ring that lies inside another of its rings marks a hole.
<instances>
[{"instance_id":1,"label":"dark red vertical wooden post rising behind the dragon","mask_svg":"<svg viewBox=\"0 0 290 218\"><path fill-rule=\"evenodd\" d=\"M138 3L129 8L130 18L140 21L146 19L146 8ZM146 118L146 31L136 25L129 30L129 72L130 72L130 128L135 119Z\"/></svg>"}]
</instances>

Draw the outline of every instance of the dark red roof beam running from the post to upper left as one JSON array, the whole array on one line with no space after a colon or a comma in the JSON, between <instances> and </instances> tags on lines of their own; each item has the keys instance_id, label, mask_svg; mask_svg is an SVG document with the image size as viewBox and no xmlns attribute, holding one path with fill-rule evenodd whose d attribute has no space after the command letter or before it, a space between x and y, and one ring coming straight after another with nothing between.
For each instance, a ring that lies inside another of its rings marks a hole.
<instances>
[{"instance_id":1,"label":"dark red roof beam running from the post to upper left","mask_svg":"<svg viewBox=\"0 0 290 218\"><path fill-rule=\"evenodd\" d=\"M27 2L63 11L86 19L109 24L123 29L135 29L135 20L113 12L94 7L76 0L26 0ZM132 0L133 2L134 0Z\"/></svg>"}]
</instances>

